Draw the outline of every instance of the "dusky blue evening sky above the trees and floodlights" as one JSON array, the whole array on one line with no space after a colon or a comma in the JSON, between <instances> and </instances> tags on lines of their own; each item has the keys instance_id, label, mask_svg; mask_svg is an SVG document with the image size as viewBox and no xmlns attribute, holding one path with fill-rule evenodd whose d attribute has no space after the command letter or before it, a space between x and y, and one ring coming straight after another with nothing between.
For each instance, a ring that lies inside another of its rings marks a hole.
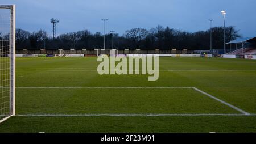
<instances>
[{"instance_id":1,"label":"dusky blue evening sky above the trees and floodlights","mask_svg":"<svg viewBox=\"0 0 256 144\"><path fill-rule=\"evenodd\" d=\"M256 36L255 0L0 0L16 5L16 28L33 32L44 29L52 36L51 18L60 19L56 33L115 31L123 35L131 28L150 29L161 25L196 32L223 26L236 26L242 37Z\"/></svg>"}]
</instances>

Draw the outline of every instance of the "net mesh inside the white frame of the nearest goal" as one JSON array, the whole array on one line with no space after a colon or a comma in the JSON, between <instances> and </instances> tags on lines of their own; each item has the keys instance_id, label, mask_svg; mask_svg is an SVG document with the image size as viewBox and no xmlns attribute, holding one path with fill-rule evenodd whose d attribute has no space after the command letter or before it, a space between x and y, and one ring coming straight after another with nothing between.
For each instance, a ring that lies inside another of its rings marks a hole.
<instances>
[{"instance_id":1,"label":"net mesh inside the white frame of the nearest goal","mask_svg":"<svg viewBox=\"0 0 256 144\"><path fill-rule=\"evenodd\" d=\"M0 9L0 120L10 116L10 32L10 9Z\"/></svg>"}]
</instances>

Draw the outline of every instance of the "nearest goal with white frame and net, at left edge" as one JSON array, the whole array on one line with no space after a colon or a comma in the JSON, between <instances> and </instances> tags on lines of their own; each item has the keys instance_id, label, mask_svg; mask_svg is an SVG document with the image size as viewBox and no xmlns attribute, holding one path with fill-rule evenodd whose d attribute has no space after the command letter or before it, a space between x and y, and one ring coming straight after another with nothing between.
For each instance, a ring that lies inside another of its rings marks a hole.
<instances>
[{"instance_id":1,"label":"nearest goal with white frame and net, at left edge","mask_svg":"<svg viewBox=\"0 0 256 144\"><path fill-rule=\"evenodd\" d=\"M0 122L15 115L15 5L0 5Z\"/></svg>"}]
</instances>

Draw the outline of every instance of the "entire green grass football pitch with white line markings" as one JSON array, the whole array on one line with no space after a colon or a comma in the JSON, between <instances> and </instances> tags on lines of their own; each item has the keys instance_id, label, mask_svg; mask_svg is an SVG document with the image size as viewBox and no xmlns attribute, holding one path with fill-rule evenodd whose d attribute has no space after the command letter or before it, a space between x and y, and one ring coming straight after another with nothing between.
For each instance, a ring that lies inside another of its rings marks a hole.
<instances>
[{"instance_id":1,"label":"entire green grass football pitch with white line markings","mask_svg":"<svg viewBox=\"0 0 256 144\"><path fill-rule=\"evenodd\" d=\"M99 75L96 57L16 58L16 114L0 132L256 132L256 61L160 57Z\"/></svg>"}]
</instances>

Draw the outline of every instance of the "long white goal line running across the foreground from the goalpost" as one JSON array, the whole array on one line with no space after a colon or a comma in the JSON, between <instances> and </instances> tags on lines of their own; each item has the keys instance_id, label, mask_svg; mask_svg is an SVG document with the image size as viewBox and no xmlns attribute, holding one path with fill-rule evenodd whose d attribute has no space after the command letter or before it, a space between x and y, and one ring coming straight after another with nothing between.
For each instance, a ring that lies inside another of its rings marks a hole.
<instances>
[{"instance_id":1,"label":"long white goal line running across the foreground from the goalpost","mask_svg":"<svg viewBox=\"0 0 256 144\"><path fill-rule=\"evenodd\" d=\"M233 114L233 113L216 113L216 114L208 114L208 113L195 113L195 114L23 114L23 115L15 115L15 116L38 116L38 117L90 117L90 116L113 116L113 117L122 117L122 116L147 116L147 117L160 117L160 116L256 116L256 114L245 115L245 114Z\"/></svg>"}]
</instances>

